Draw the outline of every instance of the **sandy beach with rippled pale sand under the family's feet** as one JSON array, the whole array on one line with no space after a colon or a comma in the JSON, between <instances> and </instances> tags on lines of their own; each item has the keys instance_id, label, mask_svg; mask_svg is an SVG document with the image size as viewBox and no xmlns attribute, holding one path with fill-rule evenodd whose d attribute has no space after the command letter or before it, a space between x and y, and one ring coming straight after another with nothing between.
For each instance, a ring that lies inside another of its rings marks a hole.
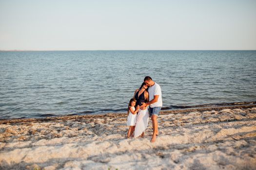
<instances>
[{"instance_id":1,"label":"sandy beach with rippled pale sand under the family's feet","mask_svg":"<svg viewBox=\"0 0 256 170\"><path fill-rule=\"evenodd\" d=\"M256 105L162 111L127 139L127 114L0 120L0 169L255 170Z\"/></svg>"}]
</instances>

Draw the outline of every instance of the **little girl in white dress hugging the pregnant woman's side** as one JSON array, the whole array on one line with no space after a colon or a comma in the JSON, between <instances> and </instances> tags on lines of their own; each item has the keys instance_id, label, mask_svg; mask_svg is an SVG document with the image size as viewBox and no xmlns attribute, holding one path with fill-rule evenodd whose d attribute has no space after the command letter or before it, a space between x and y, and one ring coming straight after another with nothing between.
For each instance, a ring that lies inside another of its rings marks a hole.
<instances>
[{"instance_id":1,"label":"little girl in white dress hugging the pregnant woman's side","mask_svg":"<svg viewBox=\"0 0 256 170\"><path fill-rule=\"evenodd\" d=\"M127 114L128 114L127 125L130 126L128 130L127 138L129 138L135 130L136 118L137 118L137 113L139 109L139 106L137 106L137 108L135 109L134 107L135 104L136 104L136 100L132 98L129 102L128 110L127 110Z\"/></svg>"}]
</instances>

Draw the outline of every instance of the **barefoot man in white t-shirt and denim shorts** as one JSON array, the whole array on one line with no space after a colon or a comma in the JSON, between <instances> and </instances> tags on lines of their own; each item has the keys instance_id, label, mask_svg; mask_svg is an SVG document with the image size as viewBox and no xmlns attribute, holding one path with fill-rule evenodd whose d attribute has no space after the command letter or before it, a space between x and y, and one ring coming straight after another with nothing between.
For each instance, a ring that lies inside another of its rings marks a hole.
<instances>
[{"instance_id":1,"label":"barefoot man in white t-shirt and denim shorts","mask_svg":"<svg viewBox=\"0 0 256 170\"><path fill-rule=\"evenodd\" d=\"M153 125L153 136L151 142L155 142L158 136L158 115L162 107L162 92L161 87L152 80L151 77L146 76L144 83L148 86L149 102L143 103L140 108L144 109L149 105L149 116Z\"/></svg>"}]
</instances>

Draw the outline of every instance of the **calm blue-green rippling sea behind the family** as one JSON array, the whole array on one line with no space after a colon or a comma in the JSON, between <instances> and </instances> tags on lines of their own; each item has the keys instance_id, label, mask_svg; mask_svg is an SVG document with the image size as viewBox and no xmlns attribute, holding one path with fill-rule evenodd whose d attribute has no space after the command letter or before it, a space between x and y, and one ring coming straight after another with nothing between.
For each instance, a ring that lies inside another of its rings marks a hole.
<instances>
[{"instance_id":1,"label":"calm blue-green rippling sea behind the family","mask_svg":"<svg viewBox=\"0 0 256 170\"><path fill-rule=\"evenodd\" d=\"M163 110L256 102L256 51L0 51L0 119L125 113L145 76Z\"/></svg>"}]
</instances>

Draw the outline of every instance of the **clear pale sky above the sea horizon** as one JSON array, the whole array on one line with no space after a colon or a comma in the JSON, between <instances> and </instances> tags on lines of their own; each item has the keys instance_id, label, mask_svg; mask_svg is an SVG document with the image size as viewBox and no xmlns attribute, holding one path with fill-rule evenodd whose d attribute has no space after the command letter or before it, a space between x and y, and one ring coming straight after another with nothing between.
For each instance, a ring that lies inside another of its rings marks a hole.
<instances>
[{"instance_id":1,"label":"clear pale sky above the sea horizon","mask_svg":"<svg viewBox=\"0 0 256 170\"><path fill-rule=\"evenodd\" d=\"M0 0L0 50L256 50L256 0Z\"/></svg>"}]
</instances>

